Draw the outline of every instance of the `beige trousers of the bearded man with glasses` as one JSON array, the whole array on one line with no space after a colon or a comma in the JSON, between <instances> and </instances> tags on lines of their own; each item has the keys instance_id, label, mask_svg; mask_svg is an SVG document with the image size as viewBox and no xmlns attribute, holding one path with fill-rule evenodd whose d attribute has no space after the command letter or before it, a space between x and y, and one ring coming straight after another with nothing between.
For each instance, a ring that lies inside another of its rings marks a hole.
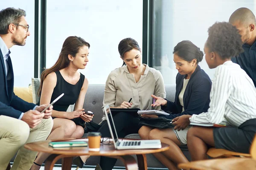
<instances>
[{"instance_id":1,"label":"beige trousers of the bearded man with glasses","mask_svg":"<svg viewBox=\"0 0 256 170\"><path fill-rule=\"evenodd\" d=\"M42 119L35 128L22 120L0 116L0 170L6 170L9 161L17 153L11 170L29 170L37 152L27 150L24 144L46 140L53 126L52 118Z\"/></svg>"}]
</instances>

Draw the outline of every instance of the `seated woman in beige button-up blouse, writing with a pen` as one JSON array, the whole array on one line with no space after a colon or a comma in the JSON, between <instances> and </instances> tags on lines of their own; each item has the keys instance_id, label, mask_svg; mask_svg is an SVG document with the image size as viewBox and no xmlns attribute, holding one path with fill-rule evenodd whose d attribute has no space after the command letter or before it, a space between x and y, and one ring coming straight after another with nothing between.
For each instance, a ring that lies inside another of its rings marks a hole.
<instances>
[{"instance_id":1,"label":"seated woman in beige button-up blouse, writing with a pen","mask_svg":"<svg viewBox=\"0 0 256 170\"><path fill-rule=\"evenodd\" d=\"M140 108L151 110L152 97L166 97L163 77L160 71L148 67L142 63L141 49L136 40L125 38L118 45L120 58L123 65L111 71L106 81L103 105L112 108ZM129 103L129 99L131 99ZM160 110L160 107L154 109ZM139 119L125 112L116 113L113 116L116 131L120 138L130 133L138 133L140 129ZM102 118L102 127L99 132L102 137L111 137L106 118ZM116 159L101 157L102 170L112 169Z\"/></svg>"}]
</instances>

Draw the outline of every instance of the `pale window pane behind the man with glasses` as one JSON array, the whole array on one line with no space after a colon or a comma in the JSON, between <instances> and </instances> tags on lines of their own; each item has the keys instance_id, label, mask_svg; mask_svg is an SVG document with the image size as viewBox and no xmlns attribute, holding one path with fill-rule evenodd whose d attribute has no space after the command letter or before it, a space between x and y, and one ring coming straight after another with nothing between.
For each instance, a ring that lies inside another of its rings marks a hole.
<instances>
[{"instance_id":1,"label":"pale window pane behind the man with glasses","mask_svg":"<svg viewBox=\"0 0 256 170\"><path fill-rule=\"evenodd\" d=\"M26 11L30 36L25 46L14 45L10 48L14 71L14 86L28 87L34 77L34 32L35 32L35 0L12 0L1 3L1 8L21 8Z\"/></svg>"}]
</instances>

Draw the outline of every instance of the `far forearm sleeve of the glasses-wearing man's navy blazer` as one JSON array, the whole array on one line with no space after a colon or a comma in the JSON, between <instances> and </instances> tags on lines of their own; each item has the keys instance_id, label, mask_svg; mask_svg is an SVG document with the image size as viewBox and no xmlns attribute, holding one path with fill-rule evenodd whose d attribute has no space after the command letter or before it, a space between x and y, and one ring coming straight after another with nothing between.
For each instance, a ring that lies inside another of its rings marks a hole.
<instances>
[{"instance_id":1,"label":"far forearm sleeve of the glasses-wearing man's navy blazer","mask_svg":"<svg viewBox=\"0 0 256 170\"><path fill-rule=\"evenodd\" d=\"M20 99L18 96L16 96L13 93L10 106L18 111L25 113L25 112L35 108L36 105L34 103L29 103L29 102L24 101L23 99Z\"/></svg>"}]
</instances>

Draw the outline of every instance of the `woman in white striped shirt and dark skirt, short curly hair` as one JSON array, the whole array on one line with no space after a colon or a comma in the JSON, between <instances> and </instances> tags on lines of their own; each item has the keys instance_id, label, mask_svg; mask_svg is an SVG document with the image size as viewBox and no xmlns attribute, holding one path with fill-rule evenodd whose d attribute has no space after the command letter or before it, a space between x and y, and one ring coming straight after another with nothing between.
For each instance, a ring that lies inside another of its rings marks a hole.
<instances>
[{"instance_id":1,"label":"woman in white striped shirt and dark skirt, short curly hair","mask_svg":"<svg viewBox=\"0 0 256 170\"><path fill-rule=\"evenodd\" d=\"M205 59L209 68L216 68L209 109L199 115L186 116L188 122L197 123L219 124L226 119L233 127L190 128L187 142L193 161L207 159L209 146L249 153L256 133L256 88L246 72L231 61L232 56L242 52L241 36L226 22L215 23L208 33ZM177 127L180 127L179 118L174 119Z\"/></svg>"}]
</instances>

